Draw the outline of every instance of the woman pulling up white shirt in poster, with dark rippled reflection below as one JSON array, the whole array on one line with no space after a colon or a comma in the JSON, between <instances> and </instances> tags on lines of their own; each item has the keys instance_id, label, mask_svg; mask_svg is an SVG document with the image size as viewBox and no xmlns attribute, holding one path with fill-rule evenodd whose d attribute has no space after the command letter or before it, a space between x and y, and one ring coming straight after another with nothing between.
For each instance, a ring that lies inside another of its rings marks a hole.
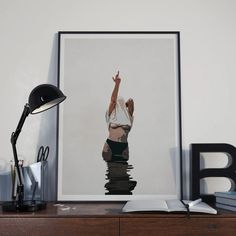
<instances>
[{"instance_id":1,"label":"woman pulling up white shirt in poster, with dark rippled reflection below","mask_svg":"<svg viewBox=\"0 0 236 236\"><path fill-rule=\"evenodd\" d=\"M131 181L127 173L132 169L128 165L129 146L128 134L133 124L134 102L129 99L127 102L118 97L121 78L119 71L112 77L115 86L112 91L109 108L106 112L106 122L109 136L104 144L102 156L107 162L107 179L105 184L108 190L106 194L132 194L137 182Z\"/></svg>"}]
</instances>

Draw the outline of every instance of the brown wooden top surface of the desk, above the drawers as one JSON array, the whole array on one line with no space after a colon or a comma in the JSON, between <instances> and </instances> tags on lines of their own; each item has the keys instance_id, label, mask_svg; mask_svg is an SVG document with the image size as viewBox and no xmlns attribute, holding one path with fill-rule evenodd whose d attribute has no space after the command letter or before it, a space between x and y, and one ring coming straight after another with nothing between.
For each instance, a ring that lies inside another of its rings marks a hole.
<instances>
[{"instance_id":1,"label":"brown wooden top surface of the desk, above the drawers","mask_svg":"<svg viewBox=\"0 0 236 236\"><path fill-rule=\"evenodd\" d=\"M122 208L125 202L78 202L78 203L48 203L47 208L37 212L3 212L0 208L0 218L57 218L57 217L138 217L138 218L182 218L186 217L184 212L166 213L166 212L142 212L142 213L123 213ZM191 213L191 217L224 217L236 218L235 212L219 211L217 215Z\"/></svg>"}]
</instances>

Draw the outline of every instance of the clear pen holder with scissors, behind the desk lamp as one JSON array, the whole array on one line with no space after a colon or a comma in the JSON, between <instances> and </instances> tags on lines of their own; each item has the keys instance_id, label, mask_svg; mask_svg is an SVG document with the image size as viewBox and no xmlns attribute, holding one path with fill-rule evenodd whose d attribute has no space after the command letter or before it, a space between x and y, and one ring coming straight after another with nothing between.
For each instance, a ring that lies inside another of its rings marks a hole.
<instances>
[{"instance_id":1,"label":"clear pen holder with scissors, behind the desk lamp","mask_svg":"<svg viewBox=\"0 0 236 236\"><path fill-rule=\"evenodd\" d=\"M25 200L47 200L48 162L41 161L23 168Z\"/></svg>"}]
</instances>

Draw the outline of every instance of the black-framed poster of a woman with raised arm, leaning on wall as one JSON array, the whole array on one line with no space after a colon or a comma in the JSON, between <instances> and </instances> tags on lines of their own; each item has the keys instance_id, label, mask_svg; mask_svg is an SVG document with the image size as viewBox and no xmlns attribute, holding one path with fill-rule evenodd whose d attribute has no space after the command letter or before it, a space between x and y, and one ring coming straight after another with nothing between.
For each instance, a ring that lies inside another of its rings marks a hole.
<instances>
[{"instance_id":1,"label":"black-framed poster of a woman with raised arm, leaning on wall","mask_svg":"<svg viewBox=\"0 0 236 236\"><path fill-rule=\"evenodd\" d=\"M59 32L58 200L181 198L179 32Z\"/></svg>"}]
</instances>

